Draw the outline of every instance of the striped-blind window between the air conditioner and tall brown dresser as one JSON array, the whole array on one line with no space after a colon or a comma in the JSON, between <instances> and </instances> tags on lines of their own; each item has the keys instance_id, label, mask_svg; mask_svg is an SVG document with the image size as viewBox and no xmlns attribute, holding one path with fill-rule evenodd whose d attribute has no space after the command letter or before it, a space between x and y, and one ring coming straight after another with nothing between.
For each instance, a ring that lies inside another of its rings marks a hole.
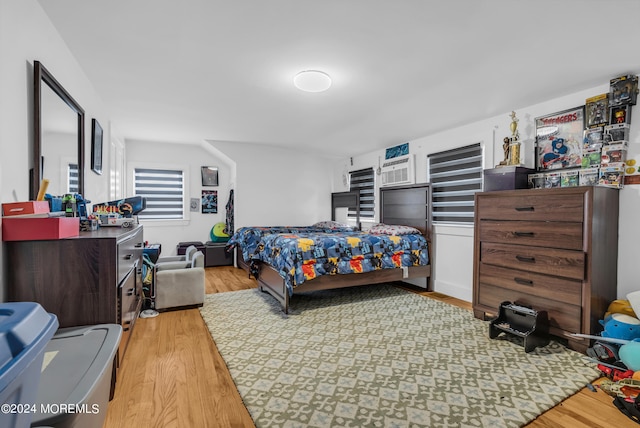
<instances>
[{"instance_id":1,"label":"striped-blind window between the air conditioner and tall brown dresser","mask_svg":"<svg viewBox=\"0 0 640 428\"><path fill-rule=\"evenodd\" d=\"M474 195L482 190L480 143L427 156L434 223L473 223Z\"/></svg>"}]
</instances>

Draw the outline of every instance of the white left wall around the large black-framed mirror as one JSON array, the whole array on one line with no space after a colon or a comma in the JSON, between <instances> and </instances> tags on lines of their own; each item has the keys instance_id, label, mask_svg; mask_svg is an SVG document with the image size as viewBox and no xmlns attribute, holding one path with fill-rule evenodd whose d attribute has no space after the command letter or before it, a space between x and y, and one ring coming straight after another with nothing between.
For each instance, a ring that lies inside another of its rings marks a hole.
<instances>
[{"instance_id":1,"label":"white left wall around the large black-framed mirror","mask_svg":"<svg viewBox=\"0 0 640 428\"><path fill-rule=\"evenodd\" d=\"M109 117L80 65L69 52L35 0L0 1L0 202L28 200L33 144L33 61L38 60L85 110L85 196L102 200L108 194L108 174L90 171L91 118L105 128ZM104 157L108 171L108 157ZM4 246L0 247L4 252ZM6 269L0 258L5 300Z\"/></svg>"}]
</instances>

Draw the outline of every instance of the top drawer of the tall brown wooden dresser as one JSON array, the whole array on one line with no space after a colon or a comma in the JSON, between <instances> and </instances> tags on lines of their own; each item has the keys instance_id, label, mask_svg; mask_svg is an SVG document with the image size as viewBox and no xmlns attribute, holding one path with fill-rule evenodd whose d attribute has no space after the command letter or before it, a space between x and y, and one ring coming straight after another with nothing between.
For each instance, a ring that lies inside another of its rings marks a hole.
<instances>
[{"instance_id":1,"label":"top drawer of the tall brown wooden dresser","mask_svg":"<svg viewBox=\"0 0 640 428\"><path fill-rule=\"evenodd\" d=\"M582 193L549 194L529 190L513 194L480 194L476 212L480 220L540 220L582 223Z\"/></svg>"}]
</instances>

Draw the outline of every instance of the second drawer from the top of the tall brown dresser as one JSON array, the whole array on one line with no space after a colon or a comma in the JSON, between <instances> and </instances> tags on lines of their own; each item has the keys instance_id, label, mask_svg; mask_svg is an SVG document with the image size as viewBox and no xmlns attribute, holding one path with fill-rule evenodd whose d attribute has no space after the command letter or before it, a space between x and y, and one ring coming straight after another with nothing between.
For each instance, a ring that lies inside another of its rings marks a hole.
<instances>
[{"instance_id":1,"label":"second drawer from the top of the tall brown dresser","mask_svg":"<svg viewBox=\"0 0 640 428\"><path fill-rule=\"evenodd\" d=\"M479 222L480 240L504 244L582 250L582 223L557 221Z\"/></svg>"}]
</instances>

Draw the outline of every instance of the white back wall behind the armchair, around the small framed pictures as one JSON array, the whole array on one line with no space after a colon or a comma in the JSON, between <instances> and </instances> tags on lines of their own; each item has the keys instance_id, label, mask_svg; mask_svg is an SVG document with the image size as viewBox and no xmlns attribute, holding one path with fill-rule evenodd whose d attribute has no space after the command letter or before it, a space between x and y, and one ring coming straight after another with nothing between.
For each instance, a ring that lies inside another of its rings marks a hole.
<instances>
[{"instance_id":1,"label":"white back wall behind the armchair, around the small framed pictures","mask_svg":"<svg viewBox=\"0 0 640 428\"><path fill-rule=\"evenodd\" d=\"M178 242L210 239L211 227L225 222L234 189L235 228L249 225L309 225L331 217L329 161L278 147L209 142L201 145L127 140L127 195L133 194L135 166L188 170L187 201L202 190L218 191L218 213L187 212L184 221L142 221L144 237L176 253ZM217 166L219 186L203 187L201 166Z\"/></svg>"}]
</instances>

